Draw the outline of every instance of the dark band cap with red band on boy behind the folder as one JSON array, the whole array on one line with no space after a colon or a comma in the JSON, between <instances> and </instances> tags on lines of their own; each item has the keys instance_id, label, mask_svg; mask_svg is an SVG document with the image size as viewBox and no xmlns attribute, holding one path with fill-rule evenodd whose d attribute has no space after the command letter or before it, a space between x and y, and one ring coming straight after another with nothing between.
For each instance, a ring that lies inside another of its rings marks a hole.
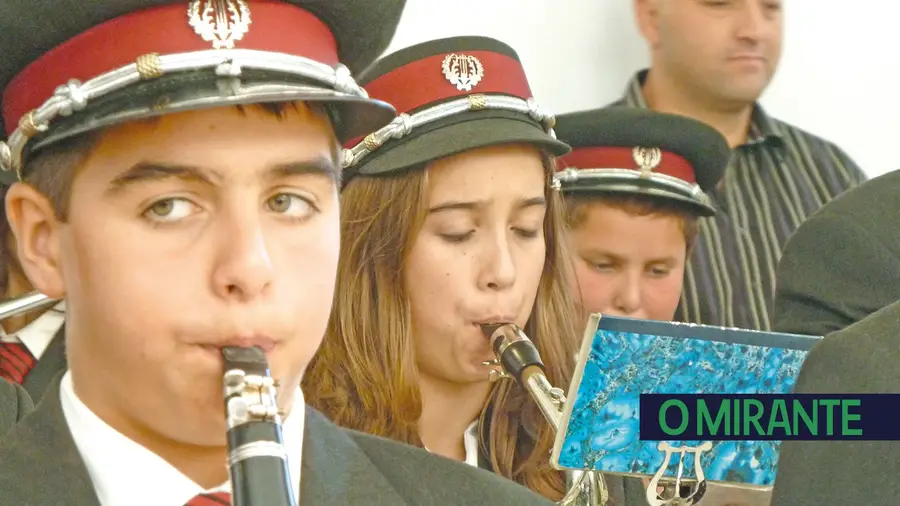
<instances>
[{"instance_id":1,"label":"dark band cap with red band on boy behind the folder","mask_svg":"<svg viewBox=\"0 0 900 506\"><path fill-rule=\"evenodd\" d=\"M556 133L572 146L557 164L565 194L642 194L715 214L705 192L722 178L731 149L711 126L614 106L560 115Z\"/></svg>"}]
</instances>

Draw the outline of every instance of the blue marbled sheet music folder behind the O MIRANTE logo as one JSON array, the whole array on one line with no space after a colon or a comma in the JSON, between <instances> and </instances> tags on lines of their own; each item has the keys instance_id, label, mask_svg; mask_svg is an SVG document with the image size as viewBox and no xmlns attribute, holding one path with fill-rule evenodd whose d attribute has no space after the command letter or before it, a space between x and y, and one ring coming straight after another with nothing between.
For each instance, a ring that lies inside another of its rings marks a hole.
<instances>
[{"instance_id":1,"label":"blue marbled sheet music folder behind the O MIRANTE logo","mask_svg":"<svg viewBox=\"0 0 900 506\"><path fill-rule=\"evenodd\" d=\"M652 476L664 454L640 441L639 395L790 393L820 338L594 315L569 387L553 463L561 469ZM698 446L701 441L672 441ZM710 481L771 486L779 441L713 441L701 465ZM667 476L674 477L678 454ZM695 476L693 457L685 478Z\"/></svg>"}]
</instances>

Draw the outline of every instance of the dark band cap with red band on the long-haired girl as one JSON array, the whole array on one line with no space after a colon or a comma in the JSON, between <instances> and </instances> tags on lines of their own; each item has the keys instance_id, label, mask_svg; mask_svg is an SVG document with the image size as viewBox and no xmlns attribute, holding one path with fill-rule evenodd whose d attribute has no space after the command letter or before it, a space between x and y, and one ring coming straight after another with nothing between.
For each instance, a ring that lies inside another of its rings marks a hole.
<instances>
[{"instance_id":1,"label":"dark band cap with red band on the long-haired girl","mask_svg":"<svg viewBox=\"0 0 900 506\"><path fill-rule=\"evenodd\" d=\"M532 97L519 56L498 40L452 37L407 47L377 61L359 82L401 114L346 145L345 181L499 144L569 151L553 135L553 116Z\"/></svg>"}]
</instances>

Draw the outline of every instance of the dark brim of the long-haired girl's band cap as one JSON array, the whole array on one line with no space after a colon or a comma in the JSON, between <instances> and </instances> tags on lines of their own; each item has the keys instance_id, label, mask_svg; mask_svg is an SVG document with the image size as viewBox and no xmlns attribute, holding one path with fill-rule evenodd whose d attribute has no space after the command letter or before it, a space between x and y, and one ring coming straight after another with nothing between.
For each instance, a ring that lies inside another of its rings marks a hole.
<instances>
[{"instance_id":1,"label":"dark brim of the long-haired girl's band cap","mask_svg":"<svg viewBox=\"0 0 900 506\"><path fill-rule=\"evenodd\" d=\"M537 122L513 111L469 111L417 127L409 136L392 139L364 158L350 175L378 175L416 167L473 149L529 144L552 156L571 148L544 132Z\"/></svg>"}]
</instances>

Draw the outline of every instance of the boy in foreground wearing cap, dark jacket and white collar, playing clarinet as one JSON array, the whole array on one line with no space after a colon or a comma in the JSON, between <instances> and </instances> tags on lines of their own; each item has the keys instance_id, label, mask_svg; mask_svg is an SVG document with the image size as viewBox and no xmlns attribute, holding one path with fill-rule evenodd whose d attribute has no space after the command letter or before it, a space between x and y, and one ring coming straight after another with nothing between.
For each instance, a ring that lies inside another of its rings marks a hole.
<instances>
[{"instance_id":1,"label":"boy in foreground wearing cap, dark jacket and white collar, playing clarinet","mask_svg":"<svg viewBox=\"0 0 900 506\"><path fill-rule=\"evenodd\" d=\"M228 477L222 349L252 346L299 503L548 504L338 429L298 388L334 291L340 143L394 116L350 71L402 0L3 3L7 214L35 288L66 299L69 359L0 442L4 504L229 504L252 484Z\"/></svg>"}]
</instances>

